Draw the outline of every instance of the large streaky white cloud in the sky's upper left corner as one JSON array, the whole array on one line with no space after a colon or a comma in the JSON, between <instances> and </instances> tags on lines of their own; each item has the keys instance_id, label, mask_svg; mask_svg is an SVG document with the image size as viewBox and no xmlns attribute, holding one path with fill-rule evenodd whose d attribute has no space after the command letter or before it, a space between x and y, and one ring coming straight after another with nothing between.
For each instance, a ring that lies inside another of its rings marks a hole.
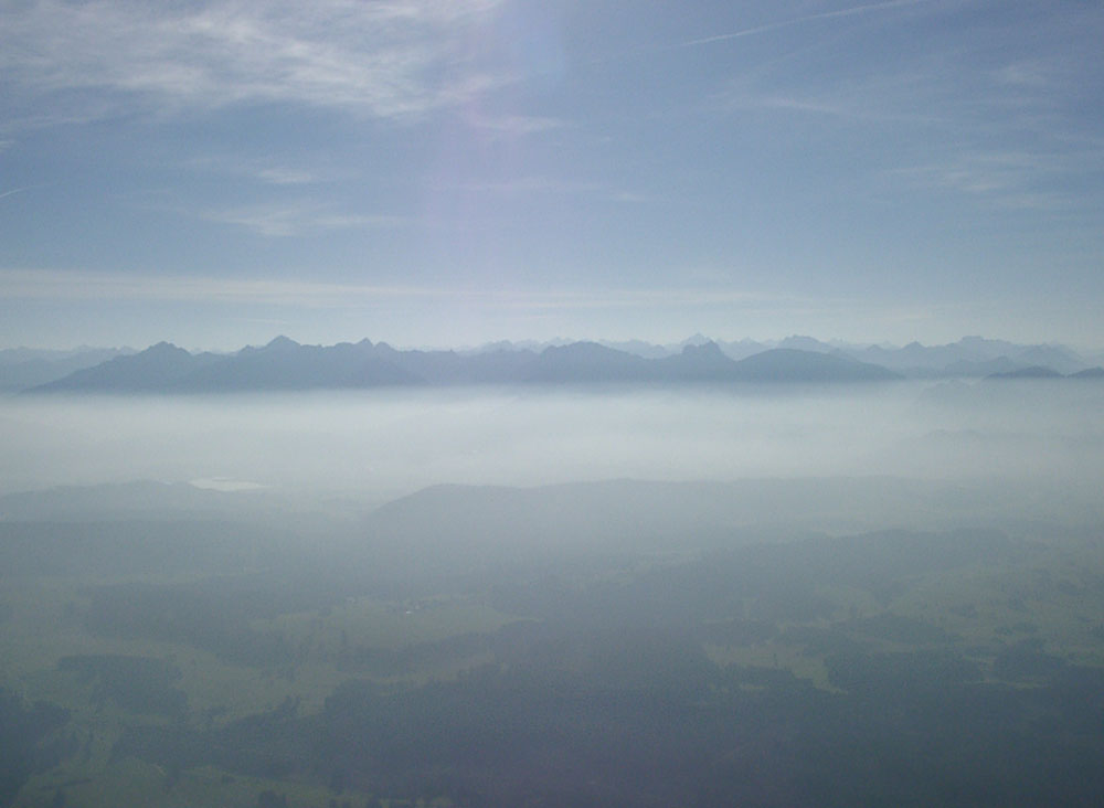
<instances>
[{"instance_id":1,"label":"large streaky white cloud in the sky's upper left corner","mask_svg":"<svg viewBox=\"0 0 1104 808\"><path fill-rule=\"evenodd\" d=\"M28 0L7 4L0 76L23 93L107 91L161 108L338 107L402 119L505 79L467 46L499 0Z\"/></svg>"}]
</instances>

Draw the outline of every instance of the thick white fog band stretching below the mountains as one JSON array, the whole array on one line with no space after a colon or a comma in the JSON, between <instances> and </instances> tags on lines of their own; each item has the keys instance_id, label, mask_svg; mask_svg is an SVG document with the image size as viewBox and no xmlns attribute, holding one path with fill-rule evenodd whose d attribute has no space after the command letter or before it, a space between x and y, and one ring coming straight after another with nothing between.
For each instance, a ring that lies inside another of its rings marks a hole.
<instances>
[{"instance_id":1,"label":"thick white fog band stretching below the mountains","mask_svg":"<svg viewBox=\"0 0 1104 808\"><path fill-rule=\"evenodd\" d=\"M1092 488L1096 382L0 400L0 491L135 479L354 493L436 483L901 476Z\"/></svg>"}]
</instances>

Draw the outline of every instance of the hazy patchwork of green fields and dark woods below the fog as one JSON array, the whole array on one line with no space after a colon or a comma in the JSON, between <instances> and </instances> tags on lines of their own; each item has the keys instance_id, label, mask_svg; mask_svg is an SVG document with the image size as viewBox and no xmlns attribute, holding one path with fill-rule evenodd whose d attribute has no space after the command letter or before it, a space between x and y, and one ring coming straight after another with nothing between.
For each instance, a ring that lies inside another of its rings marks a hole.
<instances>
[{"instance_id":1,"label":"hazy patchwork of green fields and dark woods below the fog","mask_svg":"<svg viewBox=\"0 0 1104 808\"><path fill-rule=\"evenodd\" d=\"M475 805L477 794L496 805L524 791L556 804L548 778L588 769L572 799L616 802L636 790L624 773L669 743L705 744L696 754L709 765L740 769L742 755L775 754L761 747L776 743L768 727L799 732L783 742L797 754L843 711L853 743L905 754L900 722L933 743L957 720L944 711L973 702L990 703L1001 732L1045 767L1048 733L1079 732L1062 705L1104 709L1102 539L1041 524L1018 535L735 531L728 546L710 536L703 550L581 552L551 565L519 556L423 581L361 580L317 551L315 566L293 571L252 546L256 565L240 572L9 577L0 692L17 714L55 711L8 742L36 749L10 775L21 776L10 799L326 808ZM630 716L625 699L652 706ZM670 714L698 717L655 736ZM1028 714L1050 717L1023 735ZM604 753L587 752L595 732L608 736ZM1020 753L985 743L972 765L985 794L1002 794L1007 764L987 756ZM603 763L611 754L617 762ZM819 759L802 764L802 788L828 776L831 789L864 793L849 790L858 773L828 775ZM891 772L874 777L879 788L915 789ZM676 777L648 799L696 787ZM737 790L769 805L773 788L752 777Z\"/></svg>"}]
</instances>

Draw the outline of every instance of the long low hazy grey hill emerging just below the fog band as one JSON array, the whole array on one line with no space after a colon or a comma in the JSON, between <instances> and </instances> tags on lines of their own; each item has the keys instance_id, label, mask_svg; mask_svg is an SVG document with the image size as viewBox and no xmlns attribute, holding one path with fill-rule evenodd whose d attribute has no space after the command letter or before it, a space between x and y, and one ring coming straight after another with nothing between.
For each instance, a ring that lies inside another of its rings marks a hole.
<instances>
[{"instance_id":1,"label":"long low hazy grey hill emerging just below the fog band","mask_svg":"<svg viewBox=\"0 0 1104 808\"><path fill-rule=\"evenodd\" d=\"M966 514L1004 506L1007 496L979 488L964 497L964 490L891 477L433 486L373 512L368 541L359 552L350 547L349 559L433 577L540 565L573 553L699 552L814 527L866 530L887 519L921 524L933 502L943 513Z\"/></svg>"}]
</instances>

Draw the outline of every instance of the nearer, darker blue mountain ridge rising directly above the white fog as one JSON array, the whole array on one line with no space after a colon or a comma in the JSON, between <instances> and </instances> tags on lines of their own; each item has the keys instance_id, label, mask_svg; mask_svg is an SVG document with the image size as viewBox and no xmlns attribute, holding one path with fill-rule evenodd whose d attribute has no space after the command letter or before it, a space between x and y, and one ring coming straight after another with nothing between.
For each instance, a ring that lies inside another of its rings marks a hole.
<instances>
[{"instance_id":1,"label":"nearer, darker blue mountain ridge rising directly above the white fog","mask_svg":"<svg viewBox=\"0 0 1104 808\"><path fill-rule=\"evenodd\" d=\"M899 378L892 371L829 353L774 349L733 361L715 342L645 359L596 342L531 351L400 351L368 340L301 345L277 337L234 354L192 355L159 343L36 387L54 391L229 392L360 389L421 384L606 384L694 382L856 382Z\"/></svg>"}]
</instances>

